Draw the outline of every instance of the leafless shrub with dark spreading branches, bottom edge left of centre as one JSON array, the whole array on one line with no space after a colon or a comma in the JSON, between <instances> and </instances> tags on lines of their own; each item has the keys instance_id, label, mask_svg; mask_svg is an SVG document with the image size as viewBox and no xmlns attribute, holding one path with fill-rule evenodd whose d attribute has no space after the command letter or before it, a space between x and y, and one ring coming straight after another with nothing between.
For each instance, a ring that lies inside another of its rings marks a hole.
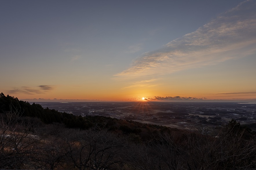
<instances>
[{"instance_id":1,"label":"leafless shrub with dark spreading branches, bottom edge left of centre","mask_svg":"<svg viewBox=\"0 0 256 170\"><path fill-rule=\"evenodd\" d=\"M89 130L76 131L65 138L66 152L74 167L78 169L114 169L122 160L120 154L126 146L118 134L102 130L97 126Z\"/></svg>"}]
</instances>

